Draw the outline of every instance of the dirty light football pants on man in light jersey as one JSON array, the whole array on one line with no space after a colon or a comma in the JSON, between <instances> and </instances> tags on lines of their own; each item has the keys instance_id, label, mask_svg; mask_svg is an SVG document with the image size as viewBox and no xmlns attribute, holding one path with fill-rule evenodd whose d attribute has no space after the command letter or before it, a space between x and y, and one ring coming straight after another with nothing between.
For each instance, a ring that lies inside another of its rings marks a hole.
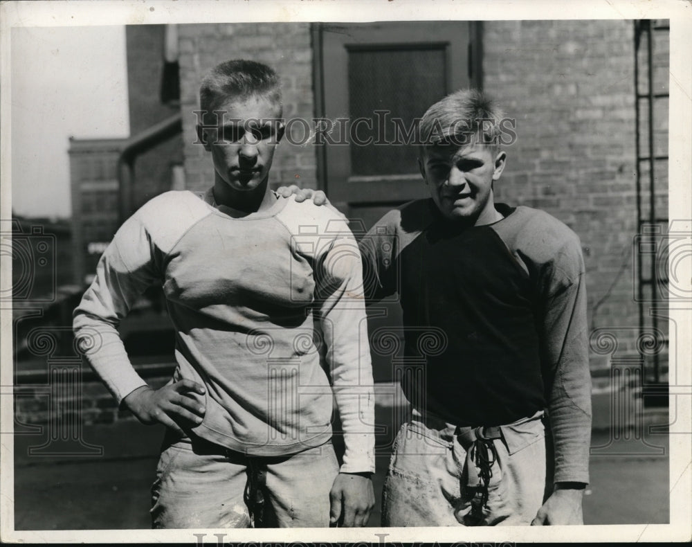
<instances>
[{"instance_id":1,"label":"dirty light football pants on man in light jersey","mask_svg":"<svg viewBox=\"0 0 692 547\"><path fill-rule=\"evenodd\" d=\"M329 526L338 474L331 442L282 457L252 457L209 442L165 443L152 485L152 528Z\"/></svg>"}]
</instances>

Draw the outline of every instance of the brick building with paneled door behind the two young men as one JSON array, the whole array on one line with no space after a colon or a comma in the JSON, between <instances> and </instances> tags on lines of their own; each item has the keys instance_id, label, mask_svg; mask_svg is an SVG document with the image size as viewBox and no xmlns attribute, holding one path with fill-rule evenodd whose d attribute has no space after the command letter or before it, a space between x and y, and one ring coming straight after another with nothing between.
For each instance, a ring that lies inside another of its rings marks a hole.
<instances>
[{"instance_id":1,"label":"brick building with paneled door behind the two young men","mask_svg":"<svg viewBox=\"0 0 692 547\"><path fill-rule=\"evenodd\" d=\"M133 135L181 118L181 134L136 156L129 213L170 188L212 183L212 164L194 144L194 110L202 76L221 60L273 66L286 120L376 118L387 109L406 125L454 89L483 87L516 119L518 134L507 148L498 201L546 210L581 237L594 385L610 385L616 362L644 362L648 380L665 378L666 321L652 318L664 316L666 301L651 298L661 279L650 283L655 264L635 238L650 221L667 224L666 21L134 26L127 48ZM162 93L165 81L179 89ZM426 196L410 147L320 145L301 141L302 125L294 129L275 154L272 186L326 190L354 232ZM396 323L397 311L388 311ZM386 360L375 361L376 380L391 379Z\"/></svg>"}]
</instances>

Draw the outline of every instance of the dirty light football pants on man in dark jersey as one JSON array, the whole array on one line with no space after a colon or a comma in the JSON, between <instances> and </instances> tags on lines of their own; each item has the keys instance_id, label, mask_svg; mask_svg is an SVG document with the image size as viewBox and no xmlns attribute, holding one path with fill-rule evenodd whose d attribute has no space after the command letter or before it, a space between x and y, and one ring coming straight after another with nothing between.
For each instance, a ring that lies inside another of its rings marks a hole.
<instances>
[{"instance_id":1,"label":"dirty light football pants on man in dark jersey","mask_svg":"<svg viewBox=\"0 0 692 547\"><path fill-rule=\"evenodd\" d=\"M383 526L530 524L546 491L542 414L501 426L502 438L490 441L496 451L491 459L497 461L490 468L487 508L474 513L473 496L465 488L468 463L459 429L414 410L394 441L383 492Z\"/></svg>"}]
</instances>

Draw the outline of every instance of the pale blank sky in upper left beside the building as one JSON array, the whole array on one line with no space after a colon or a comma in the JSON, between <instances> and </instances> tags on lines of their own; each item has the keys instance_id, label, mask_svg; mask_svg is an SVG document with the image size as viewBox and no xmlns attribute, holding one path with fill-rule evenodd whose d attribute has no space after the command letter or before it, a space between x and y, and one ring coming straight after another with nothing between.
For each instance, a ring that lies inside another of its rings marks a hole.
<instances>
[{"instance_id":1,"label":"pale blank sky in upper left beside the building","mask_svg":"<svg viewBox=\"0 0 692 547\"><path fill-rule=\"evenodd\" d=\"M12 28L12 210L69 217L69 136L129 136L125 26Z\"/></svg>"}]
</instances>

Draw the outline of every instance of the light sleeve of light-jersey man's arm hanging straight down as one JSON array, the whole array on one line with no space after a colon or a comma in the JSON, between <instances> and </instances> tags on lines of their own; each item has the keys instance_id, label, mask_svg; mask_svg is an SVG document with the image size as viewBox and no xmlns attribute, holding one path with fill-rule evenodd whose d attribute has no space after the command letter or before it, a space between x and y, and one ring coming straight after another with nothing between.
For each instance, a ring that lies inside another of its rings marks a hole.
<instances>
[{"instance_id":1,"label":"light sleeve of light-jersey man's arm hanging straight down","mask_svg":"<svg viewBox=\"0 0 692 547\"><path fill-rule=\"evenodd\" d=\"M342 472L374 472L374 390L361 254L352 235L336 238L316 272L320 328L344 431Z\"/></svg>"}]
</instances>

